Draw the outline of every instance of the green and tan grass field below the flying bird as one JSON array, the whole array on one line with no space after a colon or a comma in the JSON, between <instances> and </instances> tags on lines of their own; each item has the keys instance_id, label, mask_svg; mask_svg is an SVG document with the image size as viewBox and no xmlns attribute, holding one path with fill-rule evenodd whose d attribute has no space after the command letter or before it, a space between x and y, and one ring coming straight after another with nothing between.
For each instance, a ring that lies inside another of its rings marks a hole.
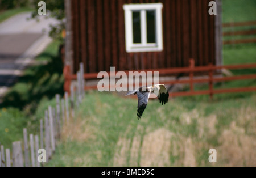
<instances>
[{"instance_id":1,"label":"green and tan grass field below the flying bird","mask_svg":"<svg viewBox=\"0 0 256 178\"><path fill-rule=\"evenodd\" d=\"M254 152L255 111L255 94L212 103L175 98L163 106L150 100L137 120L137 100L89 92L47 166L227 166L226 160L255 165L243 156L232 158L224 143L246 138L230 146ZM208 162L211 148L218 151L216 164ZM193 163L186 161L189 151Z\"/></svg>"}]
</instances>

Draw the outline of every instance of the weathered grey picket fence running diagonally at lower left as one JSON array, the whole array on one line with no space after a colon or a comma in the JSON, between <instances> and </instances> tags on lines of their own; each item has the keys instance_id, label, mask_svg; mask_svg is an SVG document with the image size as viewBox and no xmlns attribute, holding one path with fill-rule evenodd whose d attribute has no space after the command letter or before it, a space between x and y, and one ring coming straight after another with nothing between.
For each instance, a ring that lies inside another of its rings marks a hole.
<instances>
[{"instance_id":1,"label":"weathered grey picket fence running diagonally at lower left","mask_svg":"<svg viewBox=\"0 0 256 178\"><path fill-rule=\"evenodd\" d=\"M83 67L82 64L80 66ZM79 73L83 75L83 70L80 70ZM61 128L74 118L71 113L74 113L81 100L85 97L84 90L81 88L83 86L84 82L82 80L77 80L76 84L71 86L79 88L79 91L81 91L78 94L71 88L72 99L67 92L65 92L63 99L60 98L59 94L56 94L56 105L55 107L49 106L44 112L44 119L40 120L38 126L40 128L39 133L28 134L28 129L24 128L23 141L13 142L11 149L5 149L1 145L0 167L44 166L45 162L43 160L43 152L40 152L42 151L41 149L46 151L46 163L49 162L55 152L57 141L61 138ZM77 102L76 105L74 104L75 101Z\"/></svg>"}]
</instances>

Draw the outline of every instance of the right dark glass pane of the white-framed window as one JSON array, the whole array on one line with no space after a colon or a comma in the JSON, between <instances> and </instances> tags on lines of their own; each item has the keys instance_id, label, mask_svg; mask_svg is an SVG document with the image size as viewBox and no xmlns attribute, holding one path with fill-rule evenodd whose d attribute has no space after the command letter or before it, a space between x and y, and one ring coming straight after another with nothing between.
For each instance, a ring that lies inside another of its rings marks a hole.
<instances>
[{"instance_id":1,"label":"right dark glass pane of the white-framed window","mask_svg":"<svg viewBox=\"0 0 256 178\"><path fill-rule=\"evenodd\" d=\"M147 10L147 43L156 43L154 10Z\"/></svg>"}]
</instances>

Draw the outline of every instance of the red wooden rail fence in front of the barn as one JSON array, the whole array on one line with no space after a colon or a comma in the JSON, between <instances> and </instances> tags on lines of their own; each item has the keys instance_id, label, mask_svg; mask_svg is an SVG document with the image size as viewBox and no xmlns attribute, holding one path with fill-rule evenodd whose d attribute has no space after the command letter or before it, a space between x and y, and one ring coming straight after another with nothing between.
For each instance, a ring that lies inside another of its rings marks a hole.
<instances>
[{"instance_id":1,"label":"red wooden rail fence in front of the barn","mask_svg":"<svg viewBox=\"0 0 256 178\"><path fill-rule=\"evenodd\" d=\"M237 88L225 88L225 89L214 89L213 83L214 82L224 82L224 81L232 81L232 80L245 80L245 79L256 79L256 74L247 74L247 75L236 75L231 77L215 77L214 72L221 69L254 69L256 68L256 63L245 64L245 65L226 65L226 66L214 66L209 64L208 66L195 66L195 61L193 59L190 60L189 67L181 67L181 68L167 68L167 69L154 69L154 70L143 70L146 73L148 71L158 71L159 75L174 75L185 73L189 74L189 79L182 79L182 80L170 80L161 82L163 84L189 84L189 91L183 92L174 92L172 96L192 96L192 95L209 95L210 98L213 97L214 94L222 94L222 93L229 93L229 92L250 92L256 91L256 87L237 87ZM115 74L118 71L115 71ZM138 71L141 72L141 71ZM129 74L129 71L125 71L126 74ZM195 78L195 73L204 73L208 74L208 78ZM109 77L111 76L110 72L108 73ZM84 74L84 79L97 79L98 73L86 73ZM64 67L64 90L69 92L69 88L71 85L71 81L76 79L75 74L70 73L70 67ZM208 90L194 90L195 83L209 83ZM85 90L97 90L97 85L94 86L85 86Z\"/></svg>"}]
</instances>

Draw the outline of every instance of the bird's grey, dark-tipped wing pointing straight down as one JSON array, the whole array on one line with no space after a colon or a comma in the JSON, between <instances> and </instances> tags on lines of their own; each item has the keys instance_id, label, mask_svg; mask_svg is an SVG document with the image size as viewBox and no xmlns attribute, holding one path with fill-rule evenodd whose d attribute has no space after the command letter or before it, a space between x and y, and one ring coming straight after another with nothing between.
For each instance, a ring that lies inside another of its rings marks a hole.
<instances>
[{"instance_id":1,"label":"bird's grey, dark-tipped wing pointing straight down","mask_svg":"<svg viewBox=\"0 0 256 178\"><path fill-rule=\"evenodd\" d=\"M138 90L137 92L138 96L138 109L137 109L137 117L138 120L141 118L145 108L147 107L147 102L150 97L150 91L141 91Z\"/></svg>"}]
</instances>

